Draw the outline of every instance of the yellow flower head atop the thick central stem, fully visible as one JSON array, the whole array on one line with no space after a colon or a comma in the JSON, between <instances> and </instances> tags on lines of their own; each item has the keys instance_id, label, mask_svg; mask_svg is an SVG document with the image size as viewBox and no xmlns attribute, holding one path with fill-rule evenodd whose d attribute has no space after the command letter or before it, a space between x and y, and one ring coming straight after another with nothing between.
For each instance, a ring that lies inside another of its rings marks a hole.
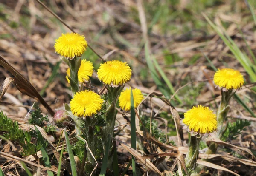
<instances>
[{"instance_id":1,"label":"yellow flower head atop the thick central stem, fully visible","mask_svg":"<svg viewBox=\"0 0 256 176\"><path fill-rule=\"evenodd\" d=\"M126 62L112 60L100 64L99 80L108 85L123 85L131 79L131 68Z\"/></svg>"}]
</instances>

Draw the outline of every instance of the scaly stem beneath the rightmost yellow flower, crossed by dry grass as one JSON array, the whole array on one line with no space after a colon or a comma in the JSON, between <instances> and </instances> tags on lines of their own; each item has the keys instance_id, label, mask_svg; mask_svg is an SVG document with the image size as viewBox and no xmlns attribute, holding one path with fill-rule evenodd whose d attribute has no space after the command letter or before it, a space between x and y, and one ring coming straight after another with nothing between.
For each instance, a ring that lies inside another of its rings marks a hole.
<instances>
[{"instance_id":1,"label":"scaly stem beneath the rightmost yellow flower, crossed by dry grass","mask_svg":"<svg viewBox=\"0 0 256 176\"><path fill-rule=\"evenodd\" d=\"M217 111L218 133L216 134L216 137L218 139L221 139L221 137L223 136L224 132L227 129L224 127L224 122L227 121L227 113L230 109L228 102L230 98L233 96L233 94L235 94L235 92L233 92L232 90L228 90L228 91L221 90L221 103ZM218 148L218 144L211 142L205 153L215 154L217 151L217 148Z\"/></svg>"}]
</instances>

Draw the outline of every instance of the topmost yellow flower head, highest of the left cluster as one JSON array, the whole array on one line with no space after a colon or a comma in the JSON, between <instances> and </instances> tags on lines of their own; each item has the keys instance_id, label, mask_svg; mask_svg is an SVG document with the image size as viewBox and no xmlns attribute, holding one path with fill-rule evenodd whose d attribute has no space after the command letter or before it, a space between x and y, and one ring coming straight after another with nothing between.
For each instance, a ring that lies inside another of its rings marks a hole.
<instances>
[{"instance_id":1,"label":"topmost yellow flower head, highest of the left cluster","mask_svg":"<svg viewBox=\"0 0 256 176\"><path fill-rule=\"evenodd\" d=\"M56 53L64 57L81 56L87 48L87 41L83 35L76 33L62 34L61 37L55 40L54 45Z\"/></svg>"}]
</instances>

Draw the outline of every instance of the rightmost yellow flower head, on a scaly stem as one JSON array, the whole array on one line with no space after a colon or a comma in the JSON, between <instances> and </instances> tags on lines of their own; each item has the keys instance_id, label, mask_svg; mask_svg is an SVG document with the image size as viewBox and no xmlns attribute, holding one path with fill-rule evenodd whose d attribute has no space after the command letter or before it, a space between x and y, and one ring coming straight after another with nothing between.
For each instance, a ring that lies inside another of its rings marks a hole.
<instances>
[{"instance_id":1,"label":"rightmost yellow flower head, on a scaly stem","mask_svg":"<svg viewBox=\"0 0 256 176\"><path fill-rule=\"evenodd\" d=\"M216 87L223 88L223 91L238 90L244 84L244 77L238 70L223 68L215 72L213 82Z\"/></svg>"}]
</instances>

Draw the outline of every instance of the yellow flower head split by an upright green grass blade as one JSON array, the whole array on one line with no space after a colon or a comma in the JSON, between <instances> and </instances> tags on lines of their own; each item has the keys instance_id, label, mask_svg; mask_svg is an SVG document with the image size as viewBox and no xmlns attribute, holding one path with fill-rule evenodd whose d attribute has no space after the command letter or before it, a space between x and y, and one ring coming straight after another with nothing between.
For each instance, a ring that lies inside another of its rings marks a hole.
<instances>
[{"instance_id":1,"label":"yellow flower head split by an upright green grass blade","mask_svg":"<svg viewBox=\"0 0 256 176\"><path fill-rule=\"evenodd\" d=\"M137 108L137 106L143 100L143 94L141 93L140 89L137 88L132 90L132 94L134 97L134 108ZM125 111L131 109L131 87L121 92L119 97L119 105Z\"/></svg>"}]
</instances>

